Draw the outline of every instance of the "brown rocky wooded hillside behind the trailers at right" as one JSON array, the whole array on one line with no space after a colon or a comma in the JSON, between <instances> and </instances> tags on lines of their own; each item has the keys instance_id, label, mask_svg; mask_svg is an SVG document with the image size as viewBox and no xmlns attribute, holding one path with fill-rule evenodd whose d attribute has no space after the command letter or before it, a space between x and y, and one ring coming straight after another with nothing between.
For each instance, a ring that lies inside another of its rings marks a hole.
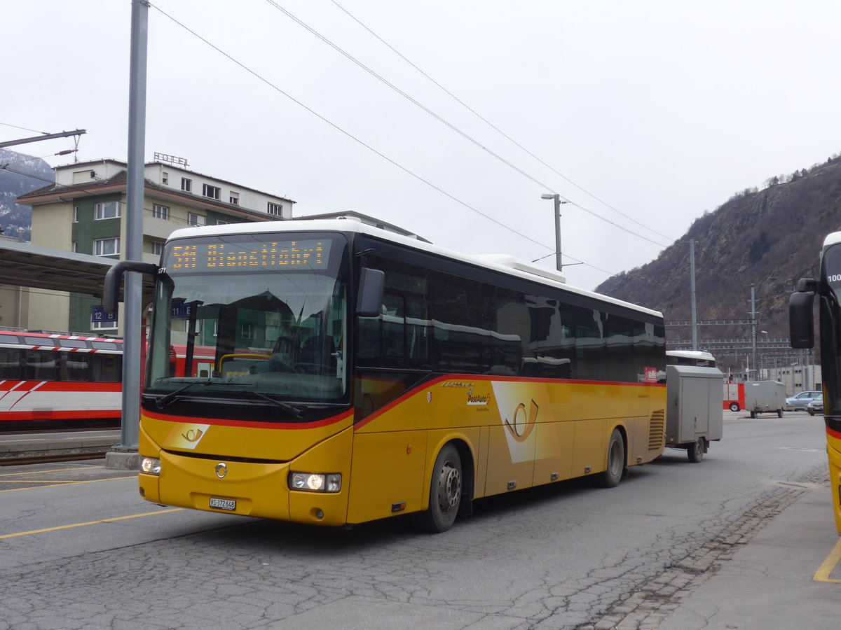
<instances>
[{"instance_id":1,"label":"brown rocky wooded hillside behind the trailers at right","mask_svg":"<svg viewBox=\"0 0 841 630\"><path fill-rule=\"evenodd\" d=\"M797 279L814 276L826 234L841 229L841 159L791 176L773 177L764 190L745 190L698 218L659 258L596 291L659 309L669 320L691 318L690 239L696 241L699 320L748 319L755 285L758 330L787 338L788 298ZM700 328L701 339L745 338L744 327ZM669 339L691 339L671 328ZM702 347L702 344L700 344Z\"/></svg>"}]
</instances>

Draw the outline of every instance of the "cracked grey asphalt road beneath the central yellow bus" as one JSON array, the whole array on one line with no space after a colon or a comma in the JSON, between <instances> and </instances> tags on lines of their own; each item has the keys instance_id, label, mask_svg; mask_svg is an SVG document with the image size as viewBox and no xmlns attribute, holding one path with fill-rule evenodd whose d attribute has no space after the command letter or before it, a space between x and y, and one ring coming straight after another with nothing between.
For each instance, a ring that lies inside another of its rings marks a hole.
<instances>
[{"instance_id":1,"label":"cracked grey asphalt road beneath the central yellow bus","mask_svg":"<svg viewBox=\"0 0 841 630\"><path fill-rule=\"evenodd\" d=\"M667 449L615 489L476 501L436 535L157 507L98 462L5 467L0 630L636 627L623 615L645 593L656 627L675 588L826 483L822 418L804 412L725 412L700 464Z\"/></svg>"}]
</instances>

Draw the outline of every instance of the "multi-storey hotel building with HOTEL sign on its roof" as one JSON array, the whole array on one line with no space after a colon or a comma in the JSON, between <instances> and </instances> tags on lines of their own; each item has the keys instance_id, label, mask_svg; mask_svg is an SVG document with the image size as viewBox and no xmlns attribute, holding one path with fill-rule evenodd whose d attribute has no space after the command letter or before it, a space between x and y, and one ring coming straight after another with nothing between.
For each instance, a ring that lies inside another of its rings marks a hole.
<instances>
[{"instance_id":1,"label":"multi-storey hotel building with HOTEL sign on its roof","mask_svg":"<svg viewBox=\"0 0 841 630\"><path fill-rule=\"evenodd\" d=\"M123 260L125 162L96 160L57 166L56 183L15 201L32 207L32 244ZM188 170L187 160L155 155L144 167L143 260L157 262L177 228L292 218L294 201ZM0 292L0 325L119 334L121 324L93 322L98 298L61 291ZM8 304L8 306L7 306Z\"/></svg>"}]
</instances>

